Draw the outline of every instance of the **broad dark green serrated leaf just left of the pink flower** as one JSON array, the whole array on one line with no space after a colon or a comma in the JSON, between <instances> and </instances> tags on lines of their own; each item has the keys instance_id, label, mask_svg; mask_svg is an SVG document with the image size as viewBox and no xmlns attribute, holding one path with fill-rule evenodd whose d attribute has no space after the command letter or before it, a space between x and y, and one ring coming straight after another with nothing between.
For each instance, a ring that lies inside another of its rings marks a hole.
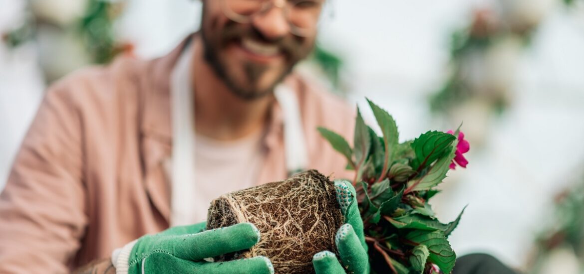
<instances>
[{"instance_id":1,"label":"broad dark green serrated leaf just left of the pink flower","mask_svg":"<svg viewBox=\"0 0 584 274\"><path fill-rule=\"evenodd\" d=\"M428 131L420 135L412 143L413 151L416 153L416 159L412 163L413 169L420 171L442 157L454 140L456 140L454 135L440 131Z\"/></svg>"}]
</instances>

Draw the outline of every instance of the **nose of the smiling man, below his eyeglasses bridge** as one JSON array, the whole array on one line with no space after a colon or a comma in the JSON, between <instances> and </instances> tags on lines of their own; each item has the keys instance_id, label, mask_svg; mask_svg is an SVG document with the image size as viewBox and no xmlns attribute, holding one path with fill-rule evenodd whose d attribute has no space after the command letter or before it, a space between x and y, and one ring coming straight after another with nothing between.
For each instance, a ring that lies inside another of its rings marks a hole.
<instances>
[{"instance_id":1,"label":"nose of the smiling man, below his eyeglasses bridge","mask_svg":"<svg viewBox=\"0 0 584 274\"><path fill-rule=\"evenodd\" d=\"M265 13L256 15L252 24L269 40L278 40L290 33L290 24L284 15L284 10L277 6L272 6Z\"/></svg>"}]
</instances>

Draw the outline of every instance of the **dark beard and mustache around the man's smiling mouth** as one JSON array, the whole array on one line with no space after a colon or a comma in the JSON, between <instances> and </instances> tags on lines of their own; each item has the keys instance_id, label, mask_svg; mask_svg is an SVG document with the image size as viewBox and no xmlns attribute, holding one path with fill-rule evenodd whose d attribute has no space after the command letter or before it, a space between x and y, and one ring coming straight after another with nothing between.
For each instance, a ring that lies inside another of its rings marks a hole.
<instances>
[{"instance_id":1,"label":"dark beard and mustache around the man's smiling mouth","mask_svg":"<svg viewBox=\"0 0 584 274\"><path fill-rule=\"evenodd\" d=\"M203 13L203 22L206 21L206 15ZM217 21L211 19L211 26L217 26ZM229 20L223 26L223 29L215 31L214 29L207 33L206 27L201 27L201 36L204 45L204 59L211 66L215 74L223 80L224 84L236 96L243 100L255 100L272 94L274 87L278 85L287 75L289 75L294 66L310 54L314 43L307 43L306 38L288 34L277 39L269 39L255 29L252 24L240 24ZM241 43L243 38L251 38L262 43L276 45L284 57L285 64L283 68L273 68L256 62L240 62L244 80L238 80L236 74L230 69L227 60L229 57L222 56L221 50L227 48L233 43ZM259 82L267 72L278 69L281 72L273 78L265 87L259 87Z\"/></svg>"}]
</instances>

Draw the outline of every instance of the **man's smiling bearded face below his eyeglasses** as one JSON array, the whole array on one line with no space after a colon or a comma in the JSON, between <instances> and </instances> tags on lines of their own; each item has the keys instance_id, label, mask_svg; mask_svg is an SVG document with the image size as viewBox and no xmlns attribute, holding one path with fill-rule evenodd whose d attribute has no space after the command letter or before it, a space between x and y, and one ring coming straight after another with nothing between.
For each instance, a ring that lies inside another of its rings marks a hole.
<instances>
[{"instance_id":1,"label":"man's smiling bearded face below his eyeglasses","mask_svg":"<svg viewBox=\"0 0 584 274\"><path fill-rule=\"evenodd\" d=\"M237 96L253 100L270 94L312 50L315 34L295 36L281 9L237 23L224 15L221 0L203 4L204 56Z\"/></svg>"}]
</instances>

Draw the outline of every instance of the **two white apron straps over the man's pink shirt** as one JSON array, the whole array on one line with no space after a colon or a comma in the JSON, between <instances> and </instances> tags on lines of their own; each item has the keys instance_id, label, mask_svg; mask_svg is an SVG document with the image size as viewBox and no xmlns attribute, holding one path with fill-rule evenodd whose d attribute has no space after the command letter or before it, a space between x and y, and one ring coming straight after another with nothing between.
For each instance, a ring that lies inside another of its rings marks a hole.
<instances>
[{"instance_id":1,"label":"two white apron straps over the man's pink shirt","mask_svg":"<svg viewBox=\"0 0 584 274\"><path fill-rule=\"evenodd\" d=\"M192 194L199 182L194 176L194 100L190 85L192 55L192 45L186 45L171 75L171 226L192 224L196 219ZM274 95L283 113L286 169L291 175L305 170L308 165L298 98L291 87L284 84L276 86Z\"/></svg>"}]
</instances>

